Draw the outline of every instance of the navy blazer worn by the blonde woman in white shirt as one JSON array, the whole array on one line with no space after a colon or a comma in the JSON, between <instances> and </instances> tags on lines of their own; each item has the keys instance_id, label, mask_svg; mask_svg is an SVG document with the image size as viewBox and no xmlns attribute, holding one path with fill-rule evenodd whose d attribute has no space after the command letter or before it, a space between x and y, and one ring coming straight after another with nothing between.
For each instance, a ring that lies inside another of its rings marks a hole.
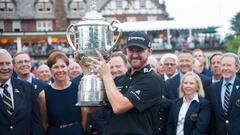
<instances>
[{"instance_id":1,"label":"navy blazer worn by the blonde woman in white shirt","mask_svg":"<svg viewBox=\"0 0 240 135\"><path fill-rule=\"evenodd\" d=\"M178 115L183 104L183 98L173 102L170 109L167 135L176 135ZM192 101L184 121L184 135L205 135L210 123L210 103L208 100L199 97L199 102Z\"/></svg>"}]
</instances>

